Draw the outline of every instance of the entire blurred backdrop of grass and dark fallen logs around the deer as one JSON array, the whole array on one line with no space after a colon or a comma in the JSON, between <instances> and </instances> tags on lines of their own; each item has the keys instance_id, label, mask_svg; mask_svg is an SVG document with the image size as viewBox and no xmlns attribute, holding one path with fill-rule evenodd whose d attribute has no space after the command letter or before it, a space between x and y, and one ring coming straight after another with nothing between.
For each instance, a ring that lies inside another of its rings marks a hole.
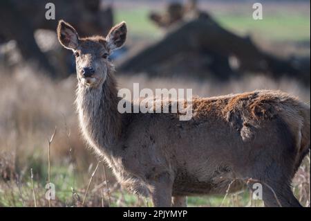
<instances>
[{"instance_id":1,"label":"entire blurred backdrop of grass and dark fallen logs around the deer","mask_svg":"<svg viewBox=\"0 0 311 221\"><path fill-rule=\"evenodd\" d=\"M55 20L45 17L55 4ZM120 88L191 88L198 96L281 89L310 104L310 1L7 0L0 2L0 206L150 206L127 193L86 149L75 112L75 60L57 22L81 37L126 21L126 45L110 59ZM55 130L56 128L56 130ZM30 176L32 169L33 176ZM88 184L90 184L89 188ZM310 206L310 154L294 193ZM34 197L35 193L35 197ZM85 197L84 203L83 199ZM263 206L249 191L189 197L189 206Z\"/></svg>"}]
</instances>

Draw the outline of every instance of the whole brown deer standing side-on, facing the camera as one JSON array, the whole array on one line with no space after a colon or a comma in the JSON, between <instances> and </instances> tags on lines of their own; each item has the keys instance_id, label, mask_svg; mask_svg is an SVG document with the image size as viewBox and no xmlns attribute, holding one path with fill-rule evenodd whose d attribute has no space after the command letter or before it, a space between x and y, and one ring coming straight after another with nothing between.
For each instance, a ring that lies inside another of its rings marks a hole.
<instances>
[{"instance_id":1,"label":"whole brown deer standing side-on, facing the camera","mask_svg":"<svg viewBox=\"0 0 311 221\"><path fill-rule=\"evenodd\" d=\"M64 20L57 26L60 44L75 55L82 136L121 186L167 207L259 182L265 206L301 206L291 183L310 151L310 105L282 91L256 90L193 97L189 121L178 113L120 113L109 55L126 34L124 21L106 37L79 37Z\"/></svg>"}]
</instances>

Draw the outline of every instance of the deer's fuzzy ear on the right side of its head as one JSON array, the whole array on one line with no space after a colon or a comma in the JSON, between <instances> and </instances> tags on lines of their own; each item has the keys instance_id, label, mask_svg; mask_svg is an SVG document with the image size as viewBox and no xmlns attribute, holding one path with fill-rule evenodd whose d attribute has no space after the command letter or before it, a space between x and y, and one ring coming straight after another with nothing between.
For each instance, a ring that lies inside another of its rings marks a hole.
<instances>
[{"instance_id":1,"label":"deer's fuzzy ear on the right side of its head","mask_svg":"<svg viewBox=\"0 0 311 221\"><path fill-rule=\"evenodd\" d=\"M106 37L107 46L111 51L120 48L124 44L126 40L126 33L127 29L124 21L111 28Z\"/></svg>"}]
</instances>

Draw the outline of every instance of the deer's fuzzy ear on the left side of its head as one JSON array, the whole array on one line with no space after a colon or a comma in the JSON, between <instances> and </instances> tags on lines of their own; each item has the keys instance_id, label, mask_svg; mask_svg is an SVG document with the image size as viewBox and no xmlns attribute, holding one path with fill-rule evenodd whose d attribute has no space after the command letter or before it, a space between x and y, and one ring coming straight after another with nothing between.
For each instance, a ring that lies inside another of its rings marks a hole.
<instances>
[{"instance_id":1,"label":"deer's fuzzy ear on the left side of its head","mask_svg":"<svg viewBox=\"0 0 311 221\"><path fill-rule=\"evenodd\" d=\"M62 46L71 50L75 50L79 44L77 31L64 20L58 22L57 37Z\"/></svg>"}]
</instances>

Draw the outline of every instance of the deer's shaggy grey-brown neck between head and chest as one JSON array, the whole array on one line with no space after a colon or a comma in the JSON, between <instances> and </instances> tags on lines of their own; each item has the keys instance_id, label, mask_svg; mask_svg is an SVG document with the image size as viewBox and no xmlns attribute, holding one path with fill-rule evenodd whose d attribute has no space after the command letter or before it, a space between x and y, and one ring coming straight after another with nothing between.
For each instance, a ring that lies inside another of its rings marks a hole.
<instances>
[{"instance_id":1,"label":"deer's shaggy grey-brown neck between head and chest","mask_svg":"<svg viewBox=\"0 0 311 221\"><path fill-rule=\"evenodd\" d=\"M88 143L100 153L111 150L120 136L121 115L117 102L115 79L110 73L100 88L87 88L78 83L79 124Z\"/></svg>"}]
</instances>

